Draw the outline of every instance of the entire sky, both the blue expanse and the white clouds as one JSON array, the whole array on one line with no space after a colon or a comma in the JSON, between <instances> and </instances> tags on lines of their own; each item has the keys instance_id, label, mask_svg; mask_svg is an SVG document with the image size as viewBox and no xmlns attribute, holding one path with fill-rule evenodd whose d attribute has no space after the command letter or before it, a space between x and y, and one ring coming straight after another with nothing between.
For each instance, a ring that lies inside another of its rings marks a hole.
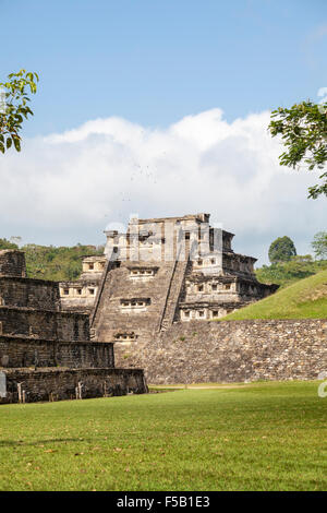
<instances>
[{"instance_id":1,"label":"entire sky, both the blue expanse and the white clouds","mask_svg":"<svg viewBox=\"0 0 327 513\"><path fill-rule=\"evenodd\" d=\"M274 238L307 253L326 229L316 177L282 170L267 135L271 109L327 86L326 1L0 0L0 81L40 76L23 151L0 157L0 237L100 243L131 212L211 212L263 263Z\"/></svg>"}]
</instances>

